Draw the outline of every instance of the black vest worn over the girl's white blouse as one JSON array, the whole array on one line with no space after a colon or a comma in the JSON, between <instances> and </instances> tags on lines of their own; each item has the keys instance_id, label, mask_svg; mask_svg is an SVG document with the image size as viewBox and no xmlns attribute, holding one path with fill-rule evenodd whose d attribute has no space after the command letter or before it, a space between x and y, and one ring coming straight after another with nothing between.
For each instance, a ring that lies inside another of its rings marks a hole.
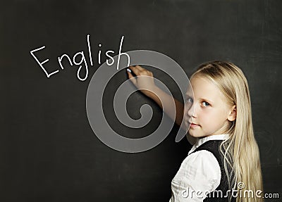
<instances>
[{"instance_id":1,"label":"black vest worn over the girl's white blouse","mask_svg":"<svg viewBox=\"0 0 282 202\"><path fill-rule=\"evenodd\" d=\"M226 176L226 172L224 170L224 164L223 164L223 154L219 150L219 146L223 140L209 140L201 144L195 151L192 151L192 153L200 150L207 150L214 154L216 160L219 162L219 167L221 168L221 182L219 184L219 187L216 188L215 191L212 191L207 198L204 198L204 202L228 202L228 197L226 197L228 187L228 179ZM191 154L191 153L190 153ZM228 164L228 163L227 163ZM228 167L228 170L231 170L230 167ZM232 185L231 185L232 187ZM219 192L219 190L222 191L222 196ZM232 190L231 190L232 191ZM231 191L228 193L230 196L232 195ZM232 197L231 202L235 202L236 198Z\"/></svg>"}]
</instances>

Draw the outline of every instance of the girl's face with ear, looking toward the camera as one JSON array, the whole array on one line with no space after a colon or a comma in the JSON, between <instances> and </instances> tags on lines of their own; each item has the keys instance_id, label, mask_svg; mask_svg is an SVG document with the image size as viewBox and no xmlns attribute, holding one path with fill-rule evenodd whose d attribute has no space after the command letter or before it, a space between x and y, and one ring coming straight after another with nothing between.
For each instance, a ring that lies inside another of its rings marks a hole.
<instances>
[{"instance_id":1,"label":"girl's face with ear, looking toward the camera","mask_svg":"<svg viewBox=\"0 0 282 202\"><path fill-rule=\"evenodd\" d=\"M235 120L235 106L228 106L221 91L205 77L195 75L190 80L184 108L185 127L192 137L224 134L228 121ZM189 128L190 127L190 128Z\"/></svg>"}]
</instances>

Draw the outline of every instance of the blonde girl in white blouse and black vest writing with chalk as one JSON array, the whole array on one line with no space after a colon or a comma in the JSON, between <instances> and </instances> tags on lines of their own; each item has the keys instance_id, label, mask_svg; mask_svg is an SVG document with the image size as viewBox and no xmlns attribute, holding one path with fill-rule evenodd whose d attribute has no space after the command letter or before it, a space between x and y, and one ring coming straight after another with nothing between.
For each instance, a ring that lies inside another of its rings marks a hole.
<instances>
[{"instance_id":1,"label":"blonde girl in white blouse and black vest writing with chalk","mask_svg":"<svg viewBox=\"0 0 282 202\"><path fill-rule=\"evenodd\" d=\"M171 182L170 202L263 200L250 92L240 68L222 61L200 65L190 77L192 88L184 105L154 84L152 72L139 65L130 69L147 76L128 72L133 84L167 109L165 113L188 131L188 140L195 139ZM173 104L176 117L168 107Z\"/></svg>"}]
</instances>

